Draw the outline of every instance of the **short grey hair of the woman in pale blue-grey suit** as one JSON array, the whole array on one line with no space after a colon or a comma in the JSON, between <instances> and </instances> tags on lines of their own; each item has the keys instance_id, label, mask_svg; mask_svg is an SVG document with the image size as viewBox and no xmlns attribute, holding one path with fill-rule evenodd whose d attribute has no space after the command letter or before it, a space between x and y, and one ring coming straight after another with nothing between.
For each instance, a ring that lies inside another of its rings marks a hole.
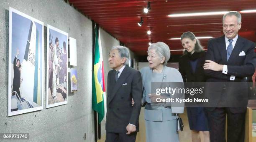
<instances>
[{"instance_id":1,"label":"short grey hair of the woman in pale blue-grey suit","mask_svg":"<svg viewBox=\"0 0 256 142\"><path fill-rule=\"evenodd\" d=\"M155 49L156 54L159 55L160 57L165 57L164 65L166 65L168 60L171 57L169 46L166 45L164 42L156 42L156 43L152 43L152 45L148 47L148 51L151 49Z\"/></svg>"}]
</instances>

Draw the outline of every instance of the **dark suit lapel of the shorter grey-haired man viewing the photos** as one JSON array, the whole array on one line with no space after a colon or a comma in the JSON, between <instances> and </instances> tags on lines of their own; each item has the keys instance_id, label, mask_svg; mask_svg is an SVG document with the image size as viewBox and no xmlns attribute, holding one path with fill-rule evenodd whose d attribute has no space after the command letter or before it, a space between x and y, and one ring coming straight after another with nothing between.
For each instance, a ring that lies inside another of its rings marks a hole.
<instances>
[{"instance_id":1,"label":"dark suit lapel of the shorter grey-haired man viewing the photos","mask_svg":"<svg viewBox=\"0 0 256 142\"><path fill-rule=\"evenodd\" d=\"M116 95L116 92L118 91L118 89L120 88L120 86L123 84L123 82L127 79L127 77L130 75L129 72L129 67L125 66L125 68L123 69L123 72L121 73L120 77L118 77L117 82L115 83L115 85L113 85L112 91L110 91L110 98L108 103L111 102L111 100L114 98L114 96ZM115 78L115 76L113 75L113 80ZM112 79L112 78L111 78Z\"/></svg>"}]
</instances>

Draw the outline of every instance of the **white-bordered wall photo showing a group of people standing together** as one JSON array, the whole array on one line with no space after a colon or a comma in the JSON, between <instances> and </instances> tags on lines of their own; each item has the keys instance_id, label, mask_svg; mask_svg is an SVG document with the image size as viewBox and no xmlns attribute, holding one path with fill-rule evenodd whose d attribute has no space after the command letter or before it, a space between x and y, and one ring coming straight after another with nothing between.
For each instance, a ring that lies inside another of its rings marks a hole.
<instances>
[{"instance_id":1,"label":"white-bordered wall photo showing a group of people standing together","mask_svg":"<svg viewBox=\"0 0 256 142\"><path fill-rule=\"evenodd\" d=\"M47 25L46 108L68 101L68 33Z\"/></svg>"}]
</instances>

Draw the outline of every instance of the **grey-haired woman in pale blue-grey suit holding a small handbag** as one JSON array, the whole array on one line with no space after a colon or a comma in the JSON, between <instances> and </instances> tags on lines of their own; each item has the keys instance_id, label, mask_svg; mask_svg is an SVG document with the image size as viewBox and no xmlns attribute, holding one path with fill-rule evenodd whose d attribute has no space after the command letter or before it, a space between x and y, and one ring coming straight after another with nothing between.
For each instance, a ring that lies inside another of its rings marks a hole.
<instances>
[{"instance_id":1,"label":"grey-haired woman in pale blue-grey suit holding a small handbag","mask_svg":"<svg viewBox=\"0 0 256 142\"><path fill-rule=\"evenodd\" d=\"M166 67L170 55L170 49L164 42L153 43L148 47L147 60L149 65L141 69L143 82L142 104L146 103L146 142L179 142L175 113L184 112L184 103L177 106L174 104L175 102L159 102L159 99L166 99L168 96L156 95L151 92L151 82L182 82L179 84L183 85L179 71L172 67ZM163 88L162 85L161 87Z\"/></svg>"}]
</instances>

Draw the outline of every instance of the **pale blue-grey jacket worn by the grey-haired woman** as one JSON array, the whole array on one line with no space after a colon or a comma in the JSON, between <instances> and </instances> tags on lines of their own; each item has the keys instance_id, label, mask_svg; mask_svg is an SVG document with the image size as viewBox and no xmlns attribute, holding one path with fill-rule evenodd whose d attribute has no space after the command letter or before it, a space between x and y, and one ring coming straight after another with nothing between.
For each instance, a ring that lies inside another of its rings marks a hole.
<instances>
[{"instance_id":1,"label":"pale blue-grey jacket worn by the grey-haired woman","mask_svg":"<svg viewBox=\"0 0 256 142\"><path fill-rule=\"evenodd\" d=\"M166 103L152 104L148 95L148 94L151 94L151 82L159 82L159 83L153 84L152 87L156 87L156 88L159 85L161 85L161 88L164 88L165 86L175 88L177 83L175 85L175 83L172 83L172 82L183 82L182 76L177 69L164 66L162 73L154 73L150 67L143 67L140 72L141 72L142 84L143 84L143 98L141 102L147 103L145 106L145 120L159 121L159 122L175 120L176 115L174 113L184 112L184 103L166 102ZM183 83L179 83L179 85L183 86ZM168 95L169 97L175 96L175 95L171 96L170 94L161 94L161 95L165 95L166 97ZM180 98L184 98L184 95L181 95Z\"/></svg>"}]
</instances>

